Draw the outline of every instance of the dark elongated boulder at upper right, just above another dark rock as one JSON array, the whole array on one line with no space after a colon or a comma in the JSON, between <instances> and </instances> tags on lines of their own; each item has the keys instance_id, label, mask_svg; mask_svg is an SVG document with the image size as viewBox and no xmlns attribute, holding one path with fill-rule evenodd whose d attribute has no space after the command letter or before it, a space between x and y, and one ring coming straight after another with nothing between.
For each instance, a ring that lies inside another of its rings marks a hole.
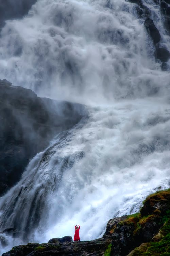
<instances>
[{"instance_id":1,"label":"dark elongated boulder at upper right, just above another dark rock","mask_svg":"<svg viewBox=\"0 0 170 256\"><path fill-rule=\"evenodd\" d=\"M146 27L148 33L150 34L154 44L160 42L160 40L161 40L160 33L159 33L158 29L156 28L152 19L147 18L145 20L145 27Z\"/></svg>"}]
</instances>

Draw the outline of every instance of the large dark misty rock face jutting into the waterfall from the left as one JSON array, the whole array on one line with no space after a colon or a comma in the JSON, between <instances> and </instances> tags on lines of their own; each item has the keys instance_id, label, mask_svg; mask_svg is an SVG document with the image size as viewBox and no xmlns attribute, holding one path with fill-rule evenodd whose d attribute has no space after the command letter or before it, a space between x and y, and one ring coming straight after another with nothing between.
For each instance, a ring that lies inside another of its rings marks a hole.
<instances>
[{"instance_id":1,"label":"large dark misty rock face jutting into the waterfall from the left","mask_svg":"<svg viewBox=\"0 0 170 256\"><path fill-rule=\"evenodd\" d=\"M20 179L36 153L86 114L80 104L40 98L0 80L0 196Z\"/></svg>"}]
</instances>

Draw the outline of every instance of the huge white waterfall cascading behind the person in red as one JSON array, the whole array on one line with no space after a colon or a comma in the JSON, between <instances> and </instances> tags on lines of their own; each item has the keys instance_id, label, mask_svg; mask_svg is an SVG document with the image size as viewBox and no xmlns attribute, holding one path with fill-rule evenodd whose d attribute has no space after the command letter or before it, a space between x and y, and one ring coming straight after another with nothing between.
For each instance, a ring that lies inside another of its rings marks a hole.
<instances>
[{"instance_id":1,"label":"huge white waterfall cascading behind the person in red","mask_svg":"<svg viewBox=\"0 0 170 256\"><path fill-rule=\"evenodd\" d=\"M170 48L158 6L151 10ZM170 74L125 0L38 0L1 31L1 76L40 96L86 104L88 117L58 134L0 199L0 228L46 242L74 233L102 235L108 219L139 209L169 186ZM167 63L168 65L170 63Z\"/></svg>"}]
</instances>

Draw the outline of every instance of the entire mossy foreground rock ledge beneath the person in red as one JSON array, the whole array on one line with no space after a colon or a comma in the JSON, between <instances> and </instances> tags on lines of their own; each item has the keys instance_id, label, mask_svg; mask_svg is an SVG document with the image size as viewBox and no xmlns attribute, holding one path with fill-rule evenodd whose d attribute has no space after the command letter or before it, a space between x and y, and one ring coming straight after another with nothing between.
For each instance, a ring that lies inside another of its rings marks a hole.
<instances>
[{"instance_id":1,"label":"entire mossy foreground rock ledge beneath the person in red","mask_svg":"<svg viewBox=\"0 0 170 256\"><path fill-rule=\"evenodd\" d=\"M15 246L2 256L169 256L170 189L146 198L139 213L110 219L103 238L72 242L72 237L48 243Z\"/></svg>"}]
</instances>

